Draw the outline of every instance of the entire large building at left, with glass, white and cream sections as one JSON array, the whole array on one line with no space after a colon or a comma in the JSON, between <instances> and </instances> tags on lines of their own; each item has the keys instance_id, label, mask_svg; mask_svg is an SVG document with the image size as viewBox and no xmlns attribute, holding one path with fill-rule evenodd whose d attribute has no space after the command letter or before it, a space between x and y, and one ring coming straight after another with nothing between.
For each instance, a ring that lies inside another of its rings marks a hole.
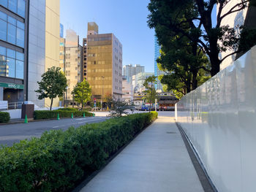
<instances>
[{"instance_id":1,"label":"entire large building at left, with glass, white and cream sections","mask_svg":"<svg viewBox=\"0 0 256 192\"><path fill-rule=\"evenodd\" d=\"M0 101L44 107L34 91L50 66L59 66L59 0L0 1Z\"/></svg>"}]
</instances>

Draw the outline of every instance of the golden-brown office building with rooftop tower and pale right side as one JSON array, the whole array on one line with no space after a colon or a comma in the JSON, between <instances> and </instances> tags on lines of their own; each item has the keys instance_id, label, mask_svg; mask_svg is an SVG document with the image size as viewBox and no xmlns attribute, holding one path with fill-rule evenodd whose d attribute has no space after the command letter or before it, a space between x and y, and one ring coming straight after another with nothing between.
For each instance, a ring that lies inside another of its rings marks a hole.
<instances>
[{"instance_id":1,"label":"golden-brown office building with rooftop tower and pale right side","mask_svg":"<svg viewBox=\"0 0 256 192\"><path fill-rule=\"evenodd\" d=\"M106 95L118 99L122 94L122 45L114 34L98 34L98 30L96 23L88 23L83 73L95 99L102 100Z\"/></svg>"}]
</instances>

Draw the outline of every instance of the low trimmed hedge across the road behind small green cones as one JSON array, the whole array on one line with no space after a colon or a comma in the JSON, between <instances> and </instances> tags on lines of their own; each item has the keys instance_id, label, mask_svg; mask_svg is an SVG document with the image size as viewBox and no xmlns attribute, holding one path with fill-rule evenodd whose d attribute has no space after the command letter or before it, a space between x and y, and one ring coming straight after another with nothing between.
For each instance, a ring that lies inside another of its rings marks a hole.
<instances>
[{"instance_id":1,"label":"low trimmed hedge across the road behind small green cones","mask_svg":"<svg viewBox=\"0 0 256 192\"><path fill-rule=\"evenodd\" d=\"M86 117L91 117L91 112L86 111L78 111L78 110L42 110L42 111L34 111L34 119L56 119L59 113L59 118L71 118L71 115L73 113L74 118L75 117L83 117L83 113L85 113Z\"/></svg>"}]
</instances>

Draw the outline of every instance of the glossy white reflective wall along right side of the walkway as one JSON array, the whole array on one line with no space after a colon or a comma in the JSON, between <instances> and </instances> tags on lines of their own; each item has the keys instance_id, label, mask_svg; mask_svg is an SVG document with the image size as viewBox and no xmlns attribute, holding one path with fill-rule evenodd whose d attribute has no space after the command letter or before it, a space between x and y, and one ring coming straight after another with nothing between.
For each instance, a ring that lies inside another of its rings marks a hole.
<instances>
[{"instance_id":1,"label":"glossy white reflective wall along right side of the walkway","mask_svg":"<svg viewBox=\"0 0 256 192\"><path fill-rule=\"evenodd\" d=\"M256 46L177 104L184 129L218 191L255 191Z\"/></svg>"}]
</instances>

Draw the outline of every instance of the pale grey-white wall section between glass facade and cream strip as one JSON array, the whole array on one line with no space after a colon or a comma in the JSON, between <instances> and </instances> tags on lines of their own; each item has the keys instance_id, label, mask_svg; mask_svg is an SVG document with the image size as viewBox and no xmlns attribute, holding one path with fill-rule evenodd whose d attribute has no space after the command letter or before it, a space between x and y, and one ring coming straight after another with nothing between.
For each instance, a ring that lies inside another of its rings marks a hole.
<instances>
[{"instance_id":1,"label":"pale grey-white wall section between glass facade and cream strip","mask_svg":"<svg viewBox=\"0 0 256 192\"><path fill-rule=\"evenodd\" d=\"M29 4L29 101L44 106L44 99L38 100L37 81L45 72L45 0L30 0Z\"/></svg>"}]
</instances>

